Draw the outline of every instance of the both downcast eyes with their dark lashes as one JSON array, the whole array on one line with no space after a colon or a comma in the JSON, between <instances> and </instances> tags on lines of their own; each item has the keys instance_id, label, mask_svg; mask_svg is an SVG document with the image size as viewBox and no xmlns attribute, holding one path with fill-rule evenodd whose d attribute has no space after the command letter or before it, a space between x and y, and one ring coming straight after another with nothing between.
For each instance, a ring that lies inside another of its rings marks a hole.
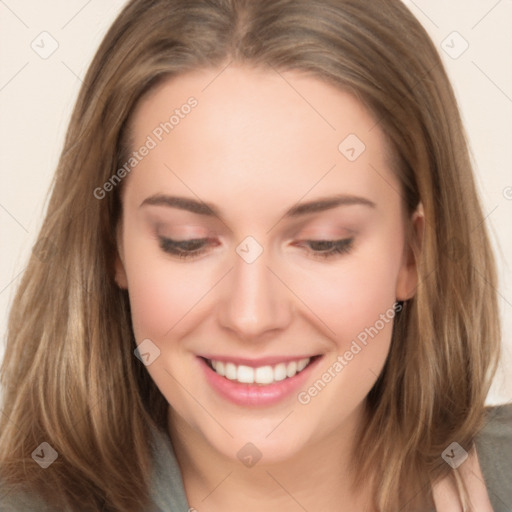
<instances>
[{"instance_id":1,"label":"both downcast eyes with their dark lashes","mask_svg":"<svg viewBox=\"0 0 512 512\"><path fill-rule=\"evenodd\" d=\"M172 240L171 238L159 237L160 248L173 256L178 256L180 259L195 258L203 254L206 250L206 243L210 240L208 238L192 238L190 240ZM347 254L352 250L354 239L344 238L341 240L303 240L301 244L307 244L310 246L313 244L320 244L324 247L322 250L310 251L313 257L320 259L328 259L340 254ZM192 247L198 247L196 249L190 249ZM327 249L325 247L328 247ZM184 249L185 247L185 249ZM186 249L188 247L189 249Z\"/></svg>"}]
</instances>

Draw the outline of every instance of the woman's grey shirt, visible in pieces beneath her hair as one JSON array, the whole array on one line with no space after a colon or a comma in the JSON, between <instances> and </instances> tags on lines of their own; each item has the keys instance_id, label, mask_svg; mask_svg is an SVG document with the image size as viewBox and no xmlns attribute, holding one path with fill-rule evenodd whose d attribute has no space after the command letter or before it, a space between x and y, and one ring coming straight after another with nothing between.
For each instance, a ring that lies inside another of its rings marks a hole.
<instances>
[{"instance_id":1,"label":"woman's grey shirt, visible in pieces beneath her hair","mask_svg":"<svg viewBox=\"0 0 512 512\"><path fill-rule=\"evenodd\" d=\"M477 453L494 512L512 512L512 403L488 409L476 439ZM154 467L148 512L193 512L169 435L153 430ZM33 496L0 486L1 512L55 512Z\"/></svg>"}]
</instances>

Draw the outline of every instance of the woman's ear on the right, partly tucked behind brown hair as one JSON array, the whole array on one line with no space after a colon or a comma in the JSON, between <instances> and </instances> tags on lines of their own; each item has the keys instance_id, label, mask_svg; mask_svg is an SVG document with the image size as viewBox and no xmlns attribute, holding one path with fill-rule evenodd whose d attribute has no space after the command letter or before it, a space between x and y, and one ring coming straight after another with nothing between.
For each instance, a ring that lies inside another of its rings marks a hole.
<instances>
[{"instance_id":1,"label":"woman's ear on the right, partly tucked behind brown hair","mask_svg":"<svg viewBox=\"0 0 512 512\"><path fill-rule=\"evenodd\" d=\"M405 301L414 297L416 287L418 286L418 262L417 256L421 251L423 243L423 233L425 229L425 212L423 204L418 207L408 219L410 225L407 226L406 243L402 257L402 265L398 273L396 283L396 300ZM416 249L413 250L413 247Z\"/></svg>"}]
</instances>

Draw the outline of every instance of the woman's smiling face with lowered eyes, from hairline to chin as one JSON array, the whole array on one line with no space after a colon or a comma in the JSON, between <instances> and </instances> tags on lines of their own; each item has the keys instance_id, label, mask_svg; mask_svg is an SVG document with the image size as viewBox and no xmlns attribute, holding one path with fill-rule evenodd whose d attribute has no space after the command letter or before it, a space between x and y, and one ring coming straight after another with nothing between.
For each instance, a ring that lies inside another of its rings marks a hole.
<instances>
[{"instance_id":1,"label":"woman's smiling face with lowered eyes, from hairline to chin","mask_svg":"<svg viewBox=\"0 0 512 512\"><path fill-rule=\"evenodd\" d=\"M116 280L177 421L233 459L340 432L416 285L379 124L318 79L230 66L163 83L132 128Z\"/></svg>"}]
</instances>

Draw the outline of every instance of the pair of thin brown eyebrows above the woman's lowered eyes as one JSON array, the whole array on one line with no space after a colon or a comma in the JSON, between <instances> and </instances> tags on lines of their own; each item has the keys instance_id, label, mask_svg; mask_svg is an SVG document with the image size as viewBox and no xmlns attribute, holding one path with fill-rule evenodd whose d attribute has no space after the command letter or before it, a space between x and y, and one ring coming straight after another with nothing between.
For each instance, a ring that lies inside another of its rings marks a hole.
<instances>
[{"instance_id":1,"label":"pair of thin brown eyebrows above the woman's lowered eyes","mask_svg":"<svg viewBox=\"0 0 512 512\"><path fill-rule=\"evenodd\" d=\"M142 201L140 204L140 207L144 205L167 206L171 208L178 208L180 210L186 210L198 215L206 215L209 217L215 216L219 219L222 218L220 210L213 204L197 201L187 197L156 194L144 199L144 201ZM299 217L301 215L331 210L333 208L337 208L338 206L350 205L362 205L369 208L376 207L376 204L373 201L370 201L365 197L342 194L314 199L307 203L296 204L287 210L283 217Z\"/></svg>"}]
</instances>

